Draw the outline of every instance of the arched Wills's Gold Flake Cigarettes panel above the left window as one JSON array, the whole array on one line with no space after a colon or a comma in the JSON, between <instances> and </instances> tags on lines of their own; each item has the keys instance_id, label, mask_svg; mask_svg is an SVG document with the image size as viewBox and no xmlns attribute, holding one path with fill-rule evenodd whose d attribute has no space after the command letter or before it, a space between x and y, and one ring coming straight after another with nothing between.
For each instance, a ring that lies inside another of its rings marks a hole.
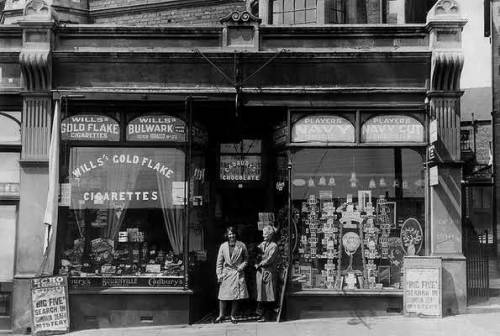
<instances>
[{"instance_id":1,"label":"arched Wills's Gold Flake Cigarettes panel above the left window","mask_svg":"<svg viewBox=\"0 0 500 336\"><path fill-rule=\"evenodd\" d=\"M61 121L61 140L120 141L120 125L107 116L74 115Z\"/></svg>"}]
</instances>

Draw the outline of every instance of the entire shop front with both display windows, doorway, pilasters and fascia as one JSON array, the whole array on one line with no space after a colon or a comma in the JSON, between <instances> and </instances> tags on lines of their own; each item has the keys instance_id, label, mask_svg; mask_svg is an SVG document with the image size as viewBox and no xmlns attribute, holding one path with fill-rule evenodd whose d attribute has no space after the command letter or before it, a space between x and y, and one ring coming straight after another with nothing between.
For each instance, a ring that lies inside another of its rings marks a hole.
<instances>
[{"instance_id":1,"label":"entire shop front with both display windows, doorway, pilasters and fascia","mask_svg":"<svg viewBox=\"0 0 500 336\"><path fill-rule=\"evenodd\" d=\"M281 318L401 313L404 256L442 258L442 310L464 311L459 13L383 27L238 12L214 27L51 20L0 28L17 48L2 59L27 81L12 93L23 116L15 332L32 322L56 106L49 261L68 275L71 328L206 321L230 225L250 252L263 226L277 228ZM251 294L241 314L254 309Z\"/></svg>"}]
</instances>

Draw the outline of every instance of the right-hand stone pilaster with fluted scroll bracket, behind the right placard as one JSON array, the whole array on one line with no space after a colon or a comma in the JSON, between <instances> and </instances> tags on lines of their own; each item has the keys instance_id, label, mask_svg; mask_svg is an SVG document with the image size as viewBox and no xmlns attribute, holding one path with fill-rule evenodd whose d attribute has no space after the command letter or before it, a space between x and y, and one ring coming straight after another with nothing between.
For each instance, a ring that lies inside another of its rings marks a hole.
<instances>
[{"instance_id":1,"label":"right-hand stone pilaster with fluted scroll bracket, behind the right placard","mask_svg":"<svg viewBox=\"0 0 500 336\"><path fill-rule=\"evenodd\" d=\"M438 124L435 143L438 184L430 189L430 251L443 260L443 314L465 312L466 266L462 254L462 163L460 159L461 34L465 21L458 3L440 0L427 16L432 50L431 119Z\"/></svg>"}]
</instances>

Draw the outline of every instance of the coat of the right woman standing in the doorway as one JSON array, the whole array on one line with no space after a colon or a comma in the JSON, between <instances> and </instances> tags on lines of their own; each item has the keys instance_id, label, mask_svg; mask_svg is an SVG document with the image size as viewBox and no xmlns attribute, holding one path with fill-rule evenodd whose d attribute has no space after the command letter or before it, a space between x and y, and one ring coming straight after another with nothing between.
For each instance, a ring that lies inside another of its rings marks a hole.
<instances>
[{"instance_id":1,"label":"coat of the right woman standing in the doorway","mask_svg":"<svg viewBox=\"0 0 500 336\"><path fill-rule=\"evenodd\" d=\"M278 296L278 245L275 242L262 242L258 248L262 252L262 261L256 273L257 301L272 302Z\"/></svg>"}]
</instances>

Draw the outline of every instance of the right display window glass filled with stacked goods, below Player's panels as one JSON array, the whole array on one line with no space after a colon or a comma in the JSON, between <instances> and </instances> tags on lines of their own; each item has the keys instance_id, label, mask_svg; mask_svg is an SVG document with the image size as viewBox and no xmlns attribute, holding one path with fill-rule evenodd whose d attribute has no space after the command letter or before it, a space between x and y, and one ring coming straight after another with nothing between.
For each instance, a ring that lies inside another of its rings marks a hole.
<instances>
[{"instance_id":1,"label":"right display window glass filled with stacked goods, below Player's panels","mask_svg":"<svg viewBox=\"0 0 500 336\"><path fill-rule=\"evenodd\" d=\"M401 288L403 256L424 253L422 154L300 149L292 162L292 282L302 289Z\"/></svg>"}]
</instances>

